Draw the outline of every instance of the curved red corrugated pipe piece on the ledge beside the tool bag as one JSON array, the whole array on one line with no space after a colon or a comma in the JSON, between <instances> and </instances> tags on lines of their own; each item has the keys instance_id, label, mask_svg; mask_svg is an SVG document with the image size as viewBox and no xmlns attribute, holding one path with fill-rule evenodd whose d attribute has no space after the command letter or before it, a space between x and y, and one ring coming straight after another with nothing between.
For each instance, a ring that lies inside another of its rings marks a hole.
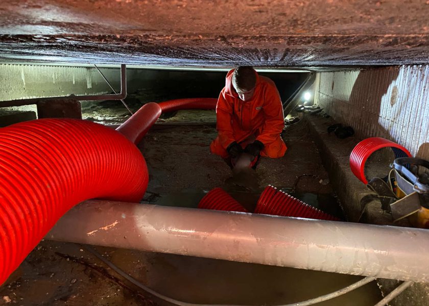
<instances>
[{"instance_id":1,"label":"curved red corrugated pipe piece on the ledge beside the tool bag","mask_svg":"<svg viewBox=\"0 0 429 306\"><path fill-rule=\"evenodd\" d=\"M368 184L368 180L365 176L365 162L368 157L373 154L378 149L391 147L395 158L399 157L411 157L410 152L393 141L382 137L371 137L362 140L360 143L356 144L350 154L350 169L353 174L358 177L358 179L364 183Z\"/></svg>"}]
</instances>

